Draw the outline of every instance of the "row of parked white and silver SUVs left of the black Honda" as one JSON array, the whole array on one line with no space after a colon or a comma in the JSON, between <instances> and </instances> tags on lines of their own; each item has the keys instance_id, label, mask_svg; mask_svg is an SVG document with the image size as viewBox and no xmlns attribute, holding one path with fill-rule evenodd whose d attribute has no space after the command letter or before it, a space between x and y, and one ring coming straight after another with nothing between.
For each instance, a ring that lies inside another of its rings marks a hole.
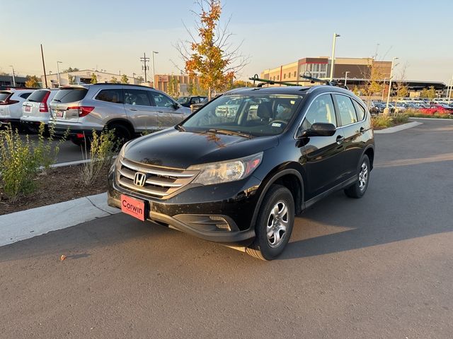
<instances>
[{"instance_id":1,"label":"row of parked white and silver SUVs left of the black Honda","mask_svg":"<svg viewBox=\"0 0 453 339\"><path fill-rule=\"evenodd\" d=\"M31 133L40 124L55 123L62 134L80 145L92 131L115 129L117 138L129 140L144 131L174 126L200 106L206 97L178 100L154 88L99 83L67 85L55 89L0 90L0 124L15 124Z\"/></svg>"}]
</instances>

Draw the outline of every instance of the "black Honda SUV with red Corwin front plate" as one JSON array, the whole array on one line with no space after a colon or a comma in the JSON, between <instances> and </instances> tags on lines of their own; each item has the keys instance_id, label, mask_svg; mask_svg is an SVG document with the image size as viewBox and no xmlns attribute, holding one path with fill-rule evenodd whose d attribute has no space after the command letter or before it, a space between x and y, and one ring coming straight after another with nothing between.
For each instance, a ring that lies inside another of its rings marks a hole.
<instances>
[{"instance_id":1,"label":"black Honda SUV with red Corwin front plate","mask_svg":"<svg viewBox=\"0 0 453 339\"><path fill-rule=\"evenodd\" d=\"M231 90L174 128L126 143L108 204L271 260L304 208L339 189L363 196L373 159L369 112L348 90Z\"/></svg>"}]
</instances>

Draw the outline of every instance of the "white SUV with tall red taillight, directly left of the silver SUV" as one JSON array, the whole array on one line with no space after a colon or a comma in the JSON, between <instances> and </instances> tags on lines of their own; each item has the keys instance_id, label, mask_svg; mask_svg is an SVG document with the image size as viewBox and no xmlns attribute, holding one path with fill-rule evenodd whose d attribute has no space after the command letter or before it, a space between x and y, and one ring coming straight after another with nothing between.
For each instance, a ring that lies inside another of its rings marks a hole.
<instances>
[{"instance_id":1,"label":"white SUV with tall red taillight, directly left of the silver SUV","mask_svg":"<svg viewBox=\"0 0 453 339\"><path fill-rule=\"evenodd\" d=\"M21 124L33 133L36 133L40 124L47 127L50 118L50 102L58 92L58 88L52 90L35 90L22 104Z\"/></svg>"}]
</instances>

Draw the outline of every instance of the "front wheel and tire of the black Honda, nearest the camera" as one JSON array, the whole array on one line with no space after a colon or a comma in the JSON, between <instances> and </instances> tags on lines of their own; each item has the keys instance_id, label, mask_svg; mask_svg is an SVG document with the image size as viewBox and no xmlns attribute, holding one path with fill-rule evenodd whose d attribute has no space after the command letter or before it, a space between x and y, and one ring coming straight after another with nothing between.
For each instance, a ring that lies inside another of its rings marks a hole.
<instances>
[{"instance_id":1,"label":"front wheel and tire of the black Honda, nearest the camera","mask_svg":"<svg viewBox=\"0 0 453 339\"><path fill-rule=\"evenodd\" d=\"M270 186L256 219L256 237L246 252L261 260L277 258L291 237L294 213L294 198L289 189L276 184Z\"/></svg>"}]
</instances>

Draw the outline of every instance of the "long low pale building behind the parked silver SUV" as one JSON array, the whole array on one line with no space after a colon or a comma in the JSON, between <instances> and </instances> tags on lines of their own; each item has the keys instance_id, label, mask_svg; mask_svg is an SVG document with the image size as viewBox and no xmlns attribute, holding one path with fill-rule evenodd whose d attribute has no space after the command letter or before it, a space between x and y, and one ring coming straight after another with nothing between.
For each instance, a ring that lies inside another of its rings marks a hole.
<instances>
[{"instance_id":1,"label":"long low pale building behind the parked silver SUV","mask_svg":"<svg viewBox=\"0 0 453 339\"><path fill-rule=\"evenodd\" d=\"M47 87L58 88L59 85L69 85L70 83L91 83L91 77L96 75L98 83L111 83L116 79L121 82L122 74L107 73L101 71L93 71L91 69L82 69L81 71L49 73L47 74ZM129 83L139 85L139 79L132 76L127 76ZM42 87L45 87L45 77L41 76Z\"/></svg>"}]
</instances>

